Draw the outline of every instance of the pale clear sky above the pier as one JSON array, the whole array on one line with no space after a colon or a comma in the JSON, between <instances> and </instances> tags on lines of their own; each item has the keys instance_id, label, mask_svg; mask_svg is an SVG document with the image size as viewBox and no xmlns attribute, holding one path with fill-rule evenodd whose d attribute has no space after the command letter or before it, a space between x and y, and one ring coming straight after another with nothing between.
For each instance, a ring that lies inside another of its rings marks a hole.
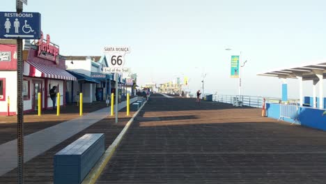
<instances>
[{"instance_id":1,"label":"pale clear sky above the pier","mask_svg":"<svg viewBox=\"0 0 326 184\"><path fill-rule=\"evenodd\" d=\"M25 12L42 15L63 55L102 55L106 45L128 45L125 67L139 83L189 77L189 88L238 94L231 55L242 53L242 94L281 96L281 80L256 74L325 59L324 0L28 0ZM1 0L0 11L15 11ZM232 48L226 51L227 47ZM304 82L311 95L311 82ZM298 97L297 80L288 81Z\"/></svg>"}]
</instances>

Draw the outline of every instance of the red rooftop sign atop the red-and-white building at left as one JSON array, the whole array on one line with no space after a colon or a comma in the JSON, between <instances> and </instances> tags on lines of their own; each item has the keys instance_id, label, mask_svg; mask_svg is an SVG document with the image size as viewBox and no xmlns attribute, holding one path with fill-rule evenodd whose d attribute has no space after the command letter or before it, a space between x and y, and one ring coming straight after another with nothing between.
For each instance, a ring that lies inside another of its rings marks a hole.
<instances>
[{"instance_id":1,"label":"red rooftop sign atop the red-and-white building at left","mask_svg":"<svg viewBox=\"0 0 326 184\"><path fill-rule=\"evenodd\" d=\"M38 40L38 56L43 59L49 59L59 64L59 47L51 43L50 36L47 34L47 39L43 38L41 31L41 38Z\"/></svg>"}]
</instances>

